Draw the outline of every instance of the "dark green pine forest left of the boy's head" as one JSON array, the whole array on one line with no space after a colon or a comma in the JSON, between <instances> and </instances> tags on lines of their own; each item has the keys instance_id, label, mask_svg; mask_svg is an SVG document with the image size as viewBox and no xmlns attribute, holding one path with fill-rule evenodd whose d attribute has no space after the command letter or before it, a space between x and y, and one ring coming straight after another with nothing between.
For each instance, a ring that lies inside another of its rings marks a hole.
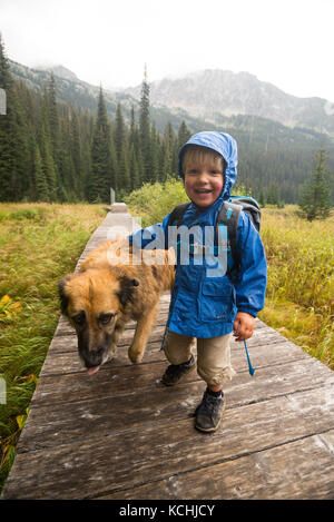
<instances>
[{"instance_id":1,"label":"dark green pine forest left of the boy's head","mask_svg":"<svg viewBox=\"0 0 334 522\"><path fill-rule=\"evenodd\" d=\"M7 115L0 116L1 201L110 201L146 181L164 181L176 171L177 150L189 136L170 124L160 136L149 118L149 87L144 79L140 115L125 124L120 104L107 117L102 88L97 115L56 101L50 75L43 92L12 79L3 47L0 87Z\"/></svg>"}]
</instances>

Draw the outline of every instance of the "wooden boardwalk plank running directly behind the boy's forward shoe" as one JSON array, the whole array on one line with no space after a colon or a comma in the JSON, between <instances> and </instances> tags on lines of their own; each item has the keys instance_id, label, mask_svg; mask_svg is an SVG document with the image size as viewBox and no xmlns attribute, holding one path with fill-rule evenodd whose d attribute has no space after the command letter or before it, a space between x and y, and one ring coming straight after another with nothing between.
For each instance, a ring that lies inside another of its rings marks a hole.
<instances>
[{"instance_id":1,"label":"wooden boardwalk plank running directly behind the boy's forward shoe","mask_svg":"<svg viewBox=\"0 0 334 522\"><path fill-rule=\"evenodd\" d=\"M144 365L137 366L137 378ZM281 370L281 372L279 372ZM310 380L312 375L312 381ZM265 401L296 391L333 383L333 372L311 357L259 368L256 380L239 373L226 385L227 407ZM185 418L194 414L205 384L194 382L173 388L144 388L124 395L55 403L30 408L18 451L35 450L82 437L107 435L130 427Z\"/></svg>"}]
</instances>

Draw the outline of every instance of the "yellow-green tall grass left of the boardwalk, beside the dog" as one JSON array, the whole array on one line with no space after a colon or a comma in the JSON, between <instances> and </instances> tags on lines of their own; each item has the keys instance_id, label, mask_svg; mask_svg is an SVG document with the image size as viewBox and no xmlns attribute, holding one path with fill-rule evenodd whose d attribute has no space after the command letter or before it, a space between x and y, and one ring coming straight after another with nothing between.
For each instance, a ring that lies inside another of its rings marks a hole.
<instances>
[{"instance_id":1,"label":"yellow-green tall grass left of the boardwalk, beside the dog","mask_svg":"<svg viewBox=\"0 0 334 522\"><path fill-rule=\"evenodd\" d=\"M105 215L101 205L0 205L0 489L58 323L57 280Z\"/></svg>"}]
</instances>

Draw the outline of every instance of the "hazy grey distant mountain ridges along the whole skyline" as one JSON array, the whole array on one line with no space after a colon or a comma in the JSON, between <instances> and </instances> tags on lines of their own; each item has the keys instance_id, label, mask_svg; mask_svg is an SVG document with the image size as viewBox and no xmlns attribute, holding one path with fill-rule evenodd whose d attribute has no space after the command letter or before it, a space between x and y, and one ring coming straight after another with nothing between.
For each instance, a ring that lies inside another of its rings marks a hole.
<instances>
[{"instance_id":1,"label":"hazy grey distant mountain ridges along the whole skyline","mask_svg":"<svg viewBox=\"0 0 334 522\"><path fill-rule=\"evenodd\" d=\"M75 101L75 93L84 107L91 107L98 96L98 86L91 86L63 66L31 69L11 61L11 72L30 87L42 88L50 71L59 78L58 93L63 101ZM104 87L104 86L102 86ZM116 107L121 101L125 109L138 106L141 83L137 87L106 91L107 101ZM86 101L84 101L86 98ZM334 135L334 102L323 98L298 98L272 83L261 81L249 72L207 69L177 79L161 79L150 83L150 104L174 116L196 118L215 126L230 116L256 116L278 121L287 127L304 127Z\"/></svg>"}]
</instances>

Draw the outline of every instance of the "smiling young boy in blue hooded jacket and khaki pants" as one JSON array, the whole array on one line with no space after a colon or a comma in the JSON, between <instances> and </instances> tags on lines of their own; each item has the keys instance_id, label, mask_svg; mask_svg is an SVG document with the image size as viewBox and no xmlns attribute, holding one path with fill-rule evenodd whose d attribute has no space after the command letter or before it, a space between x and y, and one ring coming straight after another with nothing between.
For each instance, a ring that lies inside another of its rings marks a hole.
<instances>
[{"instance_id":1,"label":"smiling young boy in blue hooded jacket and khaki pants","mask_svg":"<svg viewBox=\"0 0 334 522\"><path fill-rule=\"evenodd\" d=\"M179 152L179 175L191 204L181 225L191 229L187 253L193 245L212 246L213 235L223 201L229 198L237 177L237 145L224 132L204 131L193 136ZM161 224L138 230L130 240L138 248L170 235L170 214ZM161 232L164 233L161 235ZM196 237L198 236L198 237ZM210 244L208 244L210 242ZM167 244L165 243L165 245ZM181 242L181 248L183 248ZM157 245L155 244L155 247ZM164 246L159 246L160 248ZM230 364L229 337L249 338L255 317L264 306L266 258L259 235L247 214L242 213L237 226L237 248L242 253L240 279L234 285L222 270L209 270L208 259L199 263L189 254L188 262L176 266L164 349L170 365L161 377L166 386L180 382L195 366L194 347L197 339L197 372L207 388L196 410L195 427L210 433L217 430L225 408L224 383L235 374Z\"/></svg>"}]
</instances>

